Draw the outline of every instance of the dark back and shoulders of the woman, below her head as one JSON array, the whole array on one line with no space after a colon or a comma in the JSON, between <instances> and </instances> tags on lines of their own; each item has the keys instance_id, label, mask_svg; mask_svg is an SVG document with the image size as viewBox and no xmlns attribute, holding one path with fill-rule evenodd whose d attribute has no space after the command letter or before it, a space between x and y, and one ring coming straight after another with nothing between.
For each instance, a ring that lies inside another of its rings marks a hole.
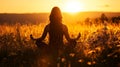
<instances>
[{"instance_id":1,"label":"dark back and shoulders of the woman, below her head","mask_svg":"<svg viewBox=\"0 0 120 67\"><path fill-rule=\"evenodd\" d=\"M67 32L67 27L61 24L48 24L47 26L49 32L49 46L59 48L63 46L63 36Z\"/></svg>"}]
</instances>

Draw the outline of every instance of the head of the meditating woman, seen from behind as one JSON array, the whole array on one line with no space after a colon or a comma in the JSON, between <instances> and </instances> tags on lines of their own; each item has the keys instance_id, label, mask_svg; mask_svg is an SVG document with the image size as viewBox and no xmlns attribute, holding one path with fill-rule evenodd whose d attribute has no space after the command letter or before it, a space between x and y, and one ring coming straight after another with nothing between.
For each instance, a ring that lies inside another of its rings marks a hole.
<instances>
[{"instance_id":1,"label":"head of the meditating woman, seen from behind","mask_svg":"<svg viewBox=\"0 0 120 67\"><path fill-rule=\"evenodd\" d=\"M62 14L59 7L53 7L49 17L51 23L60 23L62 21Z\"/></svg>"}]
</instances>

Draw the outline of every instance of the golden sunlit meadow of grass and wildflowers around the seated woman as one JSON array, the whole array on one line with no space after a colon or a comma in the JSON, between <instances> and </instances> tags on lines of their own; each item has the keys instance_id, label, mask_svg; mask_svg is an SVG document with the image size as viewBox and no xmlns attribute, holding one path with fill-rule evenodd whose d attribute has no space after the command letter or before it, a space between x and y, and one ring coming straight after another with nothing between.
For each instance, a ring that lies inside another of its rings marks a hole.
<instances>
[{"instance_id":1,"label":"golden sunlit meadow of grass and wildflowers around the seated woman","mask_svg":"<svg viewBox=\"0 0 120 67\"><path fill-rule=\"evenodd\" d=\"M74 22L64 23L72 38L81 34L71 49L75 52L69 53L71 67L120 67L120 23ZM50 58L41 56L40 49L30 39L30 34L39 38L46 24L1 24L0 67L48 67ZM65 39L64 42L67 43Z\"/></svg>"}]
</instances>

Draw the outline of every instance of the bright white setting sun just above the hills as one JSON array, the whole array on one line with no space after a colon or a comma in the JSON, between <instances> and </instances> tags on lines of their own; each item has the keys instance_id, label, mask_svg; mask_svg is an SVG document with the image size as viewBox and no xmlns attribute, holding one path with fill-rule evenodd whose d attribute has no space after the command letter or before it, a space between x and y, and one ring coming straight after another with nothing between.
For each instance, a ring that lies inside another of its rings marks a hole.
<instances>
[{"instance_id":1,"label":"bright white setting sun just above the hills","mask_svg":"<svg viewBox=\"0 0 120 67\"><path fill-rule=\"evenodd\" d=\"M79 1L68 1L66 2L66 5L64 6L64 11L69 13L76 13L82 11L83 6L80 4Z\"/></svg>"}]
</instances>

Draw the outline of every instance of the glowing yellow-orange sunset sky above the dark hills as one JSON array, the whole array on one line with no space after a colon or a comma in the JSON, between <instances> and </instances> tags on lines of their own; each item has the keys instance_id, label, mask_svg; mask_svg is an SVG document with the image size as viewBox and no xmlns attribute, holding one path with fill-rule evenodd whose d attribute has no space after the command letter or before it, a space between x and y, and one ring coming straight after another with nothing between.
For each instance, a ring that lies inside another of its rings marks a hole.
<instances>
[{"instance_id":1,"label":"glowing yellow-orange sunset sky above the dark hills","mask_svg":"<svg viewBox=\"0 0 120 67\"><path fill-rule=\"evenodd\" d=\"M50 12L54 6L63 12L120 12L120 0L0 0L0 13Z\"/></svg>"}]
</instances>

